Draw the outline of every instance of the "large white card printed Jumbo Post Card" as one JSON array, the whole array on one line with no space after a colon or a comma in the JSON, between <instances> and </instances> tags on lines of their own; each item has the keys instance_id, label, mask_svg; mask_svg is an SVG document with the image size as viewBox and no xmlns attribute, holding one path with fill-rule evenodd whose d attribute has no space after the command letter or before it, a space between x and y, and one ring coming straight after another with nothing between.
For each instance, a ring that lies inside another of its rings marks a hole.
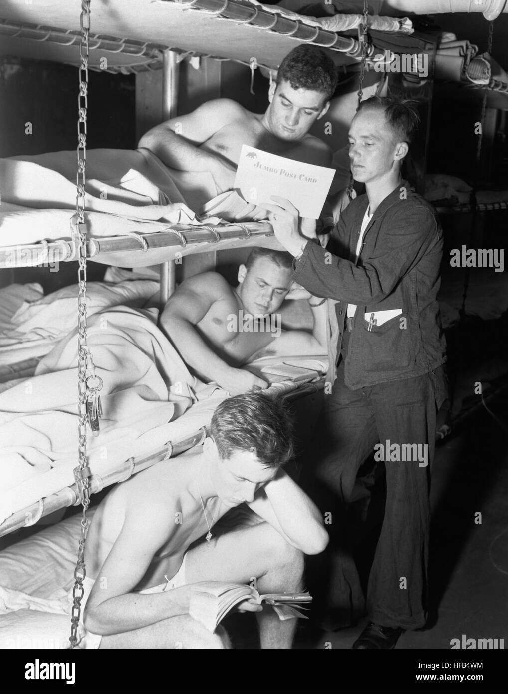
<instances>
[{"instance_id":1,"label":"large white card printed Jumbo Post Card","mask_svg":"<svg viewBox=\"0 0 508 694\"><path fill-rule=\"evenodd\" d=\"M272 195L287 198L300 217L318 219L332 185L335 169L303 164L242 145L235 189L254 205L273 203Z\"/></svg>"}]
</instances>

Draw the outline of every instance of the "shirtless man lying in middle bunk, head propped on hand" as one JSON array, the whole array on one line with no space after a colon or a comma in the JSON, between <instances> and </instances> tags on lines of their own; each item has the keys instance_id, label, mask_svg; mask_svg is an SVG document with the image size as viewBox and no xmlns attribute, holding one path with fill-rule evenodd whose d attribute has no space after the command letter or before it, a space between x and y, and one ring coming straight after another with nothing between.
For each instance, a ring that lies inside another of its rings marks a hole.
<instances>
[{"instance_id":1,"label":"shirtless man lying in middle bunk, head propped on hand","mask_svg":"<svg viewBox=\"0 0 508 694\"><path fill-rule=\"evenodd\" d=\"M204 272L189 277L171 295L160 328L198 378L237 395L268 387L240 368L249 360L326 354L326 303L292 284L292 260L285 251L253 248L239 266L236 288L219 273ZM309 300L312 333L281 328L282 302L297 298Z\"/></svg>"}]
</instances>

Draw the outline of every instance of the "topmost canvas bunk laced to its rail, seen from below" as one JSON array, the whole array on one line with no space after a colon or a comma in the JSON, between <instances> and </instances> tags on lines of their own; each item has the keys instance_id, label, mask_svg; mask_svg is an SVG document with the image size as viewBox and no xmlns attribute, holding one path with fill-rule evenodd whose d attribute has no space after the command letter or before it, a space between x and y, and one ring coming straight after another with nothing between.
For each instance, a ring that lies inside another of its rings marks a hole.
<instances>
[{"instance_id":1,"label":"topmost canvas bunk laced to its rail, seen from below","mask_svg":"<svg viewBox=\"0 0 508 694\"><path fill-rule=\"evenodd\" d=\"M27 8L7 0L0 19L0 33L7 37L2 52L78 65L80 25L72 3L33 0ZM394 26L401 34L412 33L409 21L395 22ZM246 65L256 58L258 66L268 69L277 69L286 53L299 43L330 49L339 65L352 65L362 55L355 31L356 36L350 36L344 31L323 30L310 17L242 0L97 0L92 6L92 29L92 69L101 69L100 58L112 58L111 68L119 70L126 56L135 56L136 51L146 51L139 58L153 60L151 50L167 49ZM368 60L382 52L382 37L396 32L373 29L371 33ZM37 47L35 41L39 42ZM96 41L101 41L100 55L93 52ZM105 42L112 46L110 56ZM115 65L113 56L117 53L122 58ZM131 62L136 69L136 62L142 61ZM106 69L110 69L110 60Z\"/></svg>"}]
</instances>

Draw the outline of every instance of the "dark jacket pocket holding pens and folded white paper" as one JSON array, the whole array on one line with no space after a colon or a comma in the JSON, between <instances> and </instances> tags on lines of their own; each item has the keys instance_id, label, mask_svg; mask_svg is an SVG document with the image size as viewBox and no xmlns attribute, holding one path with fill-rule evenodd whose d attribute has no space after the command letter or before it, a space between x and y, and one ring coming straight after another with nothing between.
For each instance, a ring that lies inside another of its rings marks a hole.
<instances>
[{"instance_id":1,"label":"dark jacket pocket holding pens and folded white paper","mask_svg":"<svg viewBox=\"0 0 508 694\"><path fill-rule=\"evenodd\" d=\"M412 364L411 332L402 309L369 311L360 316L362 361L366 371L394 371Z\"/></svg>"}]
</instances>

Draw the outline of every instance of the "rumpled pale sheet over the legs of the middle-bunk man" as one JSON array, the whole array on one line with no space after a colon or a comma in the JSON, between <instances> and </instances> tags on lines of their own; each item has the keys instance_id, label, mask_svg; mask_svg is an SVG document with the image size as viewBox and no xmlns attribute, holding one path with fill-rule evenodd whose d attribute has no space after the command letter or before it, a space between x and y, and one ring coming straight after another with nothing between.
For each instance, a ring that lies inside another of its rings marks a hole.
<instances>
[{"instance_id":1,"label":"rumpled pale sheet over the legs of the middle-bunk man","mask_svg":"<svg viewBox=\"0 0 508 694\"><path fill-rule=\"evenodd\" d=\"M156 310L123 306L88 321L88 346L104 382L101 434L88 443L94 474L194 434L226 397L189 374L155 322ZM74 330L41 360L33 378L0 393L0 522L74 482L76 350ZM196 400L206 402L181 417Z\"/></svg>"}]
</instances>

